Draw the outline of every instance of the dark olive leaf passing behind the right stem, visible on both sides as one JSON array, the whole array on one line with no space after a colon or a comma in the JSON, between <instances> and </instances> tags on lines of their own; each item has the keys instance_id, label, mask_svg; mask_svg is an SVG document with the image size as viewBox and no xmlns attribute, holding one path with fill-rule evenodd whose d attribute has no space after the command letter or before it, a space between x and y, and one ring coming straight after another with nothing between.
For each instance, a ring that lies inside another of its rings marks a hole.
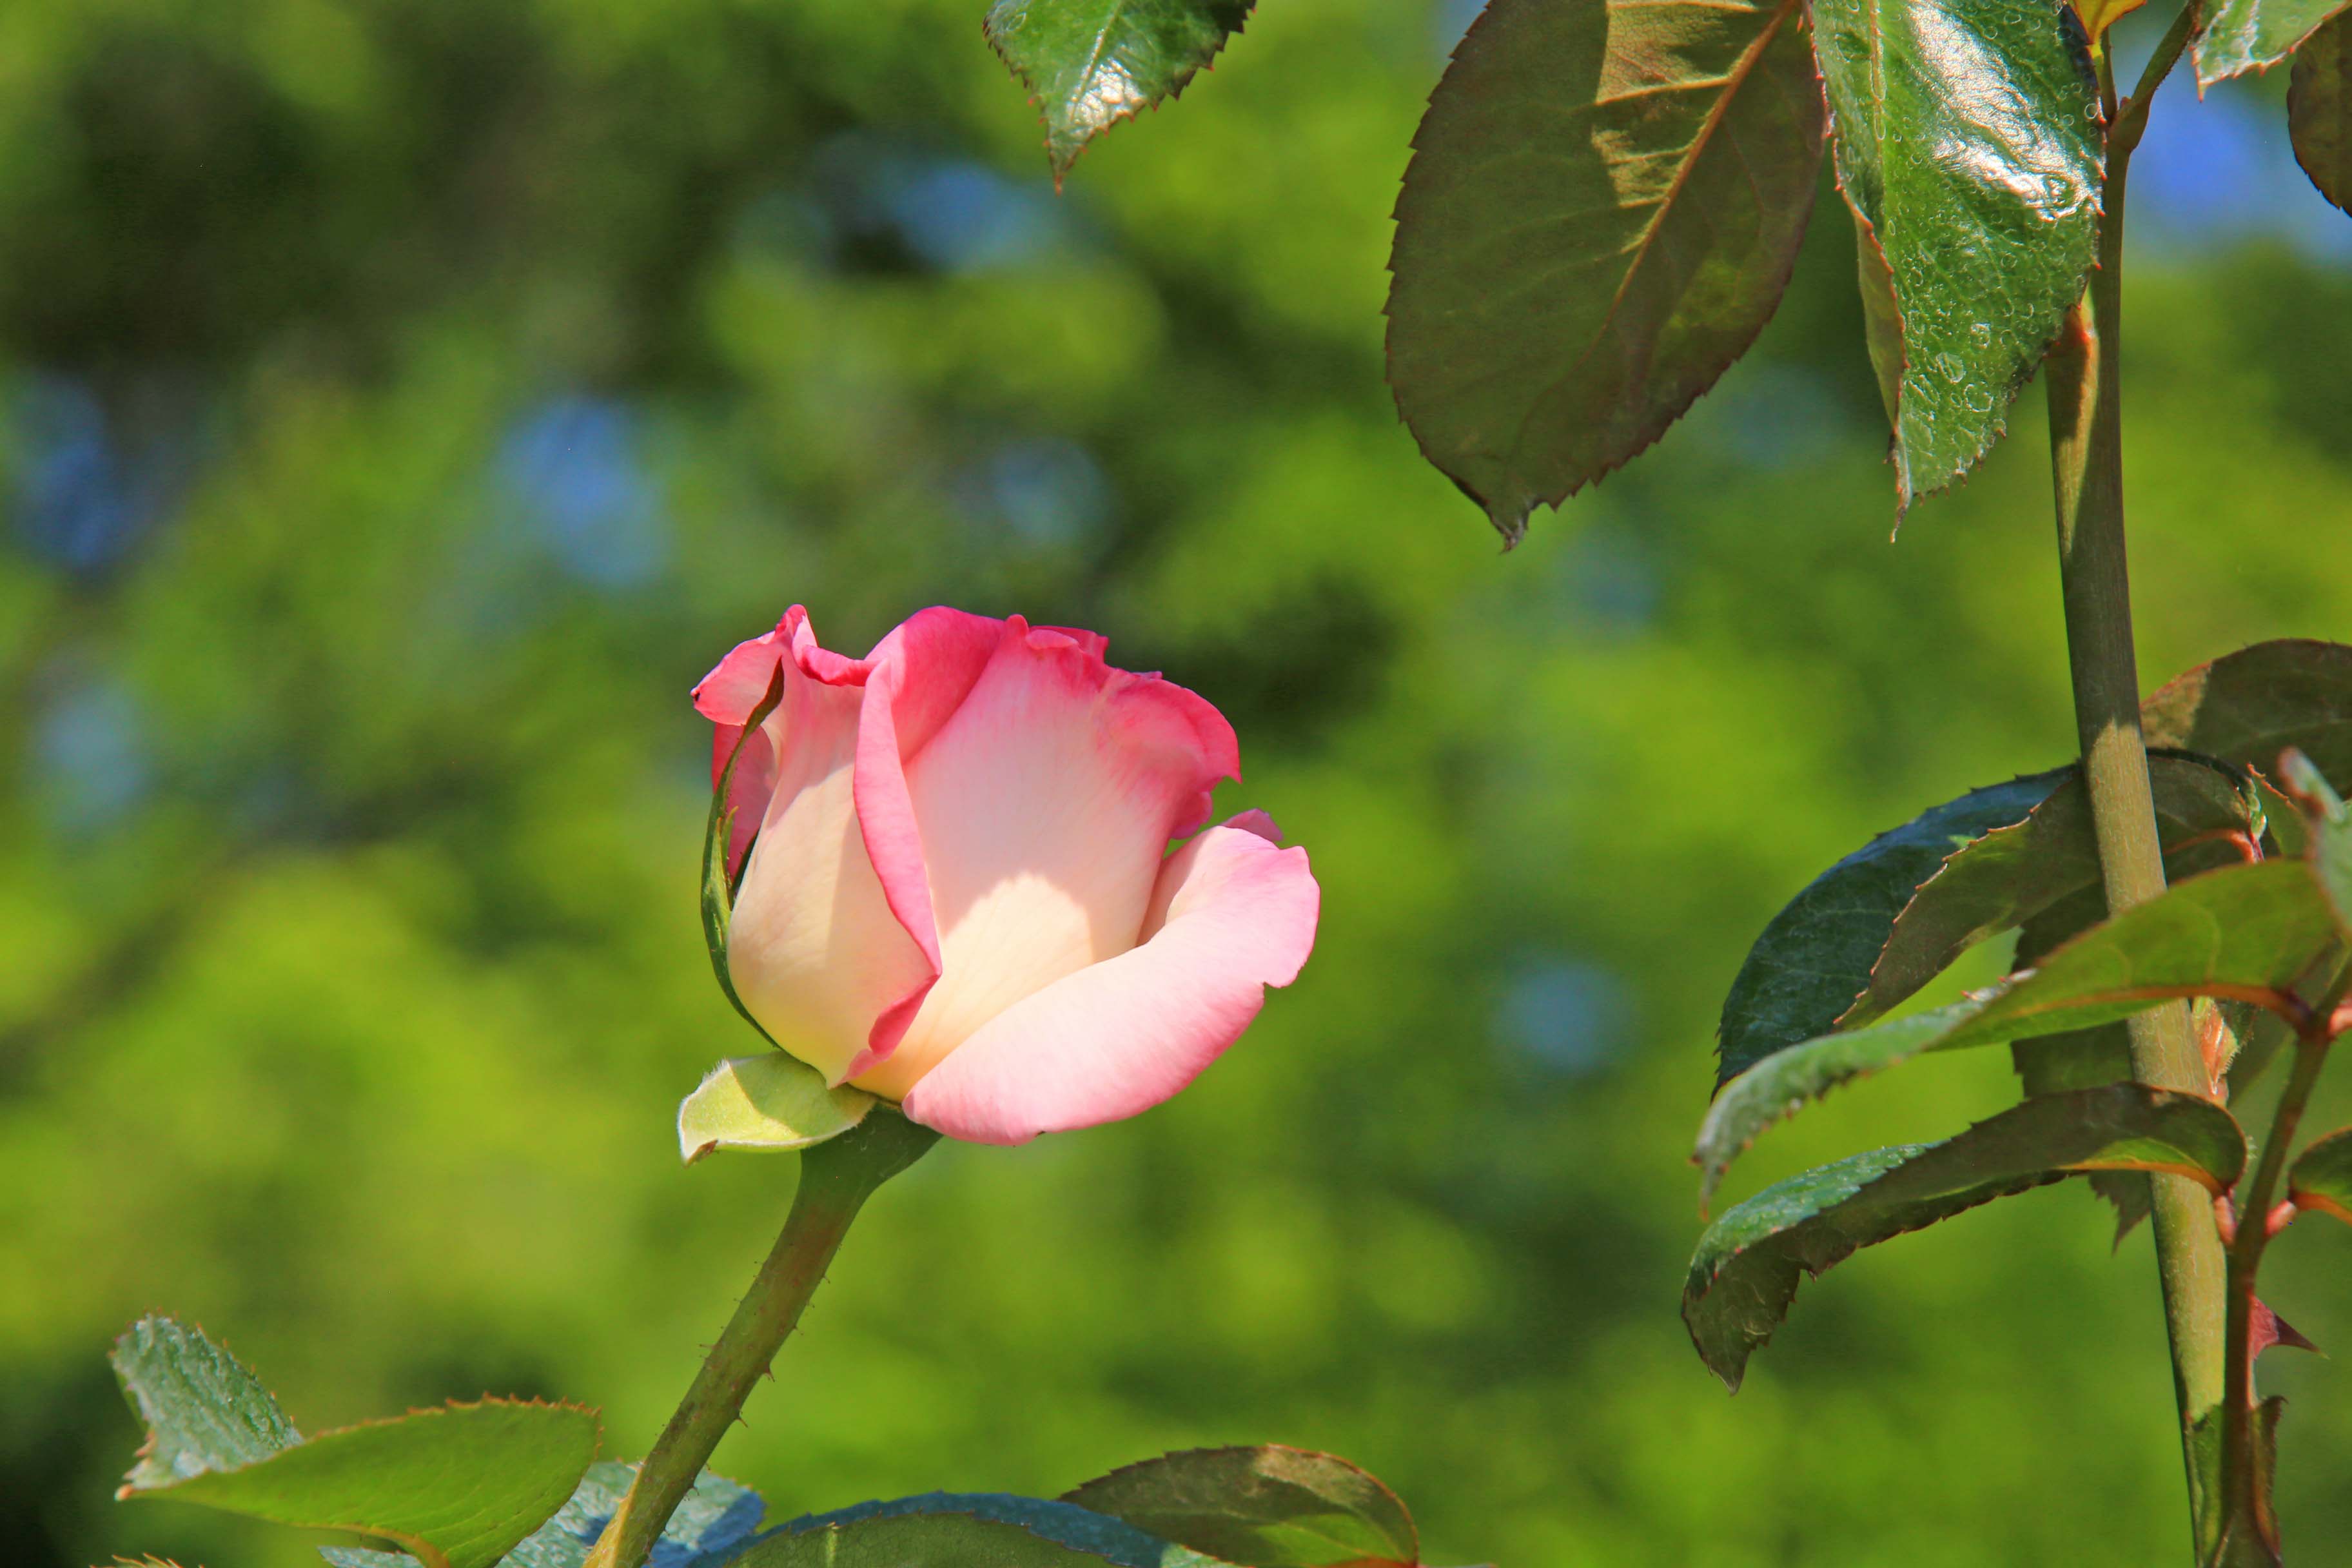
<instances>
[{"instance_id":1,"label":"dark olive leaf passing behind the right stem, visible on both sides","mask_svg":"<svg viewBox=\"0 0 2352 1568\"><path fill-rule=\"evenodd\" d=\"M2216 860L2241 858L2223 835L2253 844L2263 835L2263 802L2253 780L2234 769L2190 757L2150 757L2157 827L2166 851L2199 842ZM2169 865L2180 877L2187 865ZM2194 870L2213 870L2199 858ZM1839 1016L1851 1027L1886 1016L1898 1001L1943 973L1976 943L2020 926L2063 898L2100 886L2091 802L2079 773L2067 773L2025 820L1994 827L1952 851L1896 917L1886 947L1870 969L1863 994ZM2030 959L2020 957L2025 966Z\"/></svg>"}]
</instances>

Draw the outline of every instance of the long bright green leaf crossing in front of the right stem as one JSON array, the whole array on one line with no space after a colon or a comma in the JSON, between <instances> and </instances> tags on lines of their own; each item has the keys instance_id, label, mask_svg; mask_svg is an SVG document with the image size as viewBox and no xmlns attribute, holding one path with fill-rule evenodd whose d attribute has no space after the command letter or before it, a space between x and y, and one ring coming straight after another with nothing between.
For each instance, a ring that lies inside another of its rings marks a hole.
<instances>
[{"instance_id":1,"label":"long bright green leaf crossing in front of the right stem","mask_svg":"<svg viewBox=\"0 0 2352 1568\"><path fill-rule=\"evenodd\" d=\"M1693 1161L1712 1194L1773 1121L1924 1051L1957 1051L2129 1018L2169 997L2286 990L2338 938L2310 865L2265 860L2192 877L2086 931L2006 990L1790 1046L1733 1079Z\"/></svg>"}]
</instances>

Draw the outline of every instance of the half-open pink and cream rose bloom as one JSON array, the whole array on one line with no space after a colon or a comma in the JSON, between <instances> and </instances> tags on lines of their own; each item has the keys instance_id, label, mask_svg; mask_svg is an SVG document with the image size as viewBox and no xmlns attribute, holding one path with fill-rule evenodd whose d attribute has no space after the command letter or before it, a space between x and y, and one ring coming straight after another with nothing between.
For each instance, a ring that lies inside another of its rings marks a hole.
<instances>
[{"instance_id":1,"label":"half-open pink and cream rose bloom","mask_svg":"<svg viewBox=\"0 0 2352 1568\"><path fill-rule=\"evenodd\" d=\"M1204 830L1232 726L1103 649L927 609L844 658L793 607L694 689L717 780L783 672L734 773L727 971L830 1084L974 1143L1117 1121L1298 976L1305 851L1263 811Z\"/></svg>"}]
</instances>

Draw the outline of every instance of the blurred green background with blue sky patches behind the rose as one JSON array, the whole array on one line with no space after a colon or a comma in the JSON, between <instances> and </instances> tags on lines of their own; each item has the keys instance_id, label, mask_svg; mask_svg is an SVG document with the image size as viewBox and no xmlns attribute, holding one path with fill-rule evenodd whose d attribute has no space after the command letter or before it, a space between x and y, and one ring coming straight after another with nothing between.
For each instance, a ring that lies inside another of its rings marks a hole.
<instances>
[{"instance_id":1,"label":"blurred green background with blue sky patches behind the rose","mask_svg":"<svg viewBox=\"0 0 2352 1568\"><path fill-rule=\"evenodd\" d=\"M1736 1401L1675 1314L1745 943L2070 750L2039 390L1889 545L1825 197L1757 353L1503 557L1381 386L1465 21L1272 2L1056 197L978 0L0 7L0 1561L315 1561L111 1502L146 1309L306 1429L560 1394L642 1450L793 1182L670 1117L750 1044L687 686L795 599L1105 630L1327 914L1181 1100L875 1204L720 1450L774 1516L1282 1439L1432 1561L2178 1556L2147 1241L2072 1187L1806 1286ZM2133 176L2150 682L2352 635L2352 221L2277 89L2173 87ZM1733 1197L2011 1093L1922 1063ZM2338 1349L2347 1260L2265 1291ZM2352 1380L2265 1385L2321 1561Z\"/></svg>"}]
</instances>

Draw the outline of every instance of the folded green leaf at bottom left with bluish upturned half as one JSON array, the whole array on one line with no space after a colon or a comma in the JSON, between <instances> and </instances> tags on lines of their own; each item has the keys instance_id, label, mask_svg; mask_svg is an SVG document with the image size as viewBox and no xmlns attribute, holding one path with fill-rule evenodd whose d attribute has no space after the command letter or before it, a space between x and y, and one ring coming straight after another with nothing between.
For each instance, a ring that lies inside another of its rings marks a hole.
<instances>
[{"instance_id":1,"label":"folded green leaf at bottom left with bluish upturned half","mask_svg":"<svg viewBox=\"0 0 2352 1568\"><path fill-rule=\"evenodd\" d=\"M600 1436L576 1406L485 1399L301 1439L252 1373L169 1319L134 1324L113 1361L151 1427L125 1497L381 1535L426 1568L503 1559L572 1495Z\"/></svg>"}]
</instances>

